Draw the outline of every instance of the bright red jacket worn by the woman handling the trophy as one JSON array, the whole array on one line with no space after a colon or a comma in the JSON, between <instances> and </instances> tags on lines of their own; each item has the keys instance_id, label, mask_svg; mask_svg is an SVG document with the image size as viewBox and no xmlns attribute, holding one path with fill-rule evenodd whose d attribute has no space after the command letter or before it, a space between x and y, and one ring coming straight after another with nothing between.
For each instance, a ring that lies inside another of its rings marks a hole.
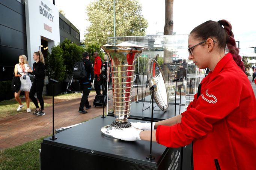
<instances>
[{"instance_id":1,"label":"bright red jacket worn by the woman handling the trophy","mask_svg":"<svg viewBox=\"0 0 256 170\"><path fill-rule=\"evenodd\" d=\"M177 148L194 140L194 170L216 170L216 160L221 170L256 169L256 100L232 54L201 84L201 95L194 95L181 123L158 126L157 142Z\"/></svg>"}]
</instances>

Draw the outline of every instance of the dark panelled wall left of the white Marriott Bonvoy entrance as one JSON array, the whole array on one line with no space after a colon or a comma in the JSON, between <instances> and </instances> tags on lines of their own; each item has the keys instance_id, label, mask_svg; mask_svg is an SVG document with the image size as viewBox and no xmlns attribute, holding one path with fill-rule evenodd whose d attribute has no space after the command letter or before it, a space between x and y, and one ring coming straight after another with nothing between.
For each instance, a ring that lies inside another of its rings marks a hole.
<instances>
[{"instance_id":1,"label":"dark panelled wall left of the white Marriott Bonvoy entrance","mask_svg":"<svg viewBox=\"0 0 256 170\"><path fill-rule=\"evenodd\" d=\"M16 0L0 0L0 81L12 79L21 54L27 56L25 6Z\"/></svg>"}]
</instances>

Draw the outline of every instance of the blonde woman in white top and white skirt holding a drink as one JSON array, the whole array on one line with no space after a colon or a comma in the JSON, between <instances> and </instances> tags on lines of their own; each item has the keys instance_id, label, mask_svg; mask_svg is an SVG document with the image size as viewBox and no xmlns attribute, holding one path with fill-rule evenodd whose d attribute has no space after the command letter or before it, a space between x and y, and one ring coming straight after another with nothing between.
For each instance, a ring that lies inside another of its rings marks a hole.
<instances>
[{"instance_id":1,"label":"blonde woman in white top and white skirt holding a drink","mask_svg":"<svg viewBox=\"0 0 256 170\"><path fill-rule=\"evenodd\" d=\"M29 91L30 91L32 84L31 84L31 81L27 74L26 69L30 69L30 66L28 65L28 62L27 62L27 57L26 57L26 55L20 55L19 63L16 64L14 67L14 73L15 73L15 77L20 77L21 87L18 92L14 92L14 97L15 97L15 100L20 104L17 109L17 111L20 111L21 108L24 107L24 104L21 103L20 92L24 91L26 104L27 104L27 113L29 113L29 112L31 112L31 110L29 108L29 103L30 103Z\"/></svg>"}]
</instances>

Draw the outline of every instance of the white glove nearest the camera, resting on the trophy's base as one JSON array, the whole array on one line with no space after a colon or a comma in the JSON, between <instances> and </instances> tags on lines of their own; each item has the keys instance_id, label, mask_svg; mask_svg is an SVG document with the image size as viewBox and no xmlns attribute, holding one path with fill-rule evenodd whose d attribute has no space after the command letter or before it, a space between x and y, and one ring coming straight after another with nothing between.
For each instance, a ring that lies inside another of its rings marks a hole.
<instances>
[{"instance_id":1,"label":"white glove nearest the camera, resting on the trophy's base","mask_svg":"<svg viewBox=\"0 0 256 170\"><path fill-rule=\"evenodd\" d=\"M111 130L111 136L113 136L116 139L135 141L135 140L141 140L140 139L141 131L142 130L138 130L134 127L114 129L114 130Z\"/></svg>"}]
</instances>

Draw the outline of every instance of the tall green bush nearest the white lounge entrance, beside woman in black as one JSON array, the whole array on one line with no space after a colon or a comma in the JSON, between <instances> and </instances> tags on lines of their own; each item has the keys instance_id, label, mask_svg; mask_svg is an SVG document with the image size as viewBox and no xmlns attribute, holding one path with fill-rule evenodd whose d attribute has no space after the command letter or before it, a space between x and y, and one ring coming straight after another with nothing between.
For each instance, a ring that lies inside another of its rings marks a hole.
<instances>
[{"instance_id":1,"label":"tall green bush nearest the white lounge entrance, beside woman in black","mask_svg":"<svg viewBox=\"0 0 256 170\"><path fill-rule=\"evenodd\" d=\"M60 82L66 78L66 67L62 55L62 48L56 45L51 48L51 54L48 52L46 58L47 75Z\"/></svg>"}]
</instances>

